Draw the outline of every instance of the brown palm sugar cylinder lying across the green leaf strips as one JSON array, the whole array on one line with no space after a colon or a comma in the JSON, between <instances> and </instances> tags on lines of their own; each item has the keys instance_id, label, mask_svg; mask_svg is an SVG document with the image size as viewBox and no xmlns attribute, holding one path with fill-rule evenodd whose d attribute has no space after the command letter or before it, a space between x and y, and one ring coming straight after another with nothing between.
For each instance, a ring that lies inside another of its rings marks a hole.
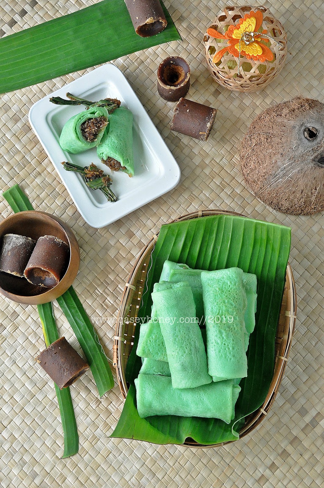
<instances>
[{"instance_id":1,"label":"brown palm sugar cylinder lying across the green leaf strips","mask_svg":"<svg viewBox=\"0 0 324 488\"><path fill-rule=\"evenodd\" d=\"M41 351L36 361L60 389L72 385L79 376L89 369L89 365L83 361L65 337L60 337L47 349Z\"/></svg>"}]
</instances>

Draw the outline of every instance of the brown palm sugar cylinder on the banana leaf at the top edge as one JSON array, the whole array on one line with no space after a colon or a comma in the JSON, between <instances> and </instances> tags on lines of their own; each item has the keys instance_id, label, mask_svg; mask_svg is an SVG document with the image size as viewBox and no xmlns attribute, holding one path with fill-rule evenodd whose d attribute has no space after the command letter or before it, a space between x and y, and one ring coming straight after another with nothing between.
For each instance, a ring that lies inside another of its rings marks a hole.
<instances>
[{"instance_id":1,"label":"brown palm sugar cylinder on the banana leaf at the top edge","mask_svg":"<svg viewBox=\"0 0 324 488\"><path fill-rule=\"evenodd\" d=\"M124 0L136 34L155 36L162 32L167 21L159 0Z\"/></svg>"}]
</instances>

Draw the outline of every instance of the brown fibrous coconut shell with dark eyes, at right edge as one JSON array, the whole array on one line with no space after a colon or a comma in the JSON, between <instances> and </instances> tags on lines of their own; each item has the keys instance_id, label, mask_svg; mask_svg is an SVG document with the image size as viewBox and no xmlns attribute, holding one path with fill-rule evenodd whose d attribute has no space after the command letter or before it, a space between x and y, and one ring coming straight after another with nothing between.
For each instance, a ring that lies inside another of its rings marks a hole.
<instances>
[{"instance_id":1,"label":"brown fibrous coconut shell with dark eyes, at right edge","mask_svg":"<svg viewBox=\"0 0 324 488\"><path fill-rule=\"evenodd\" d=\"M290 215L324 210L324 104L296 97L264 110L240 147L245 183Z\"/></svg>"}]
</instances>

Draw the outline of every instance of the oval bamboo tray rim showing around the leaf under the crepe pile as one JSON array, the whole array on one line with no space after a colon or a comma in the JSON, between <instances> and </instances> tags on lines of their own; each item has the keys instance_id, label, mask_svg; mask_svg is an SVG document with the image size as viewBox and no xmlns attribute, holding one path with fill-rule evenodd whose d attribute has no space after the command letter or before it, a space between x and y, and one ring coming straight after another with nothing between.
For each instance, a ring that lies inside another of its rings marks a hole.
<instances>
[{"instance_id":1,"label":"oval bamboo tray rim showing around the leaf under the crepe pile","mask_svg":"<svg viewBox=\"0 0 324 488\"><path fill-rule=\"evenodd\" d=\"M172 222L180 222L182 220L190 220L199 217L219 214L239 215L241 217L244 217L241 214L224 210L199 210L197 212L184 215ZM142 252L139 255L129 275L128 281L125 284L121 298L121 306L118 313L116 335L114 338L113 346L113 366L116 368L118 384L121 389L121 394L124 398L126 398L128 392L128 386L125 378L125 368L128 357L133 347L135 327L137 326L134 323L134 320L130 321L129 319L134 319L138 315L138 310L142 300L146 273L148 270L148 264L150 261L151 253L154 249L154 245L157 241L157 237L158 236L155 235L151 239L151 241L143 247ZM291 340L295 329L296 309L297 302L295 282L291 266L288 263L283 301L281 305L280 317L276 333L276 359L272 382L268 394L263 402L263 405L258 408L258 410L245 418L245 424L240 430L240 438L251 432L255 427L260 424L260 422L270 410L276 398L281 380L284 375L284 369L287 364ZM222 443L212 446L203 446L193 440L187 440L184 442L185 446L190 447L216 447L223 444L228 443Z\"/></svg>"}]
</instances>

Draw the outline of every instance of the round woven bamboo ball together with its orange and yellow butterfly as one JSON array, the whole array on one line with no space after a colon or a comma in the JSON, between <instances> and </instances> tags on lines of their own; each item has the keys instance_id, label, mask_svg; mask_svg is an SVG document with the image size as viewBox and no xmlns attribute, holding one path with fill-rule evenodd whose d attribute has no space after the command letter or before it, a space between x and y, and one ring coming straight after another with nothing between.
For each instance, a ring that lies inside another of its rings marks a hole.
<instances>
[{"instance_id":1,"label":"round woven bamboo ball together with its orange and yellow butterfly","mask_svg":"<svg viewBox=\"0 0 324 488\"><path fill-rule=\"evenodd\" d=\"M242 92L270 83L287 54L284 28L264 6L226 7L208 27L203 43L214 80Z\"/></svg>"}]
</instances>

